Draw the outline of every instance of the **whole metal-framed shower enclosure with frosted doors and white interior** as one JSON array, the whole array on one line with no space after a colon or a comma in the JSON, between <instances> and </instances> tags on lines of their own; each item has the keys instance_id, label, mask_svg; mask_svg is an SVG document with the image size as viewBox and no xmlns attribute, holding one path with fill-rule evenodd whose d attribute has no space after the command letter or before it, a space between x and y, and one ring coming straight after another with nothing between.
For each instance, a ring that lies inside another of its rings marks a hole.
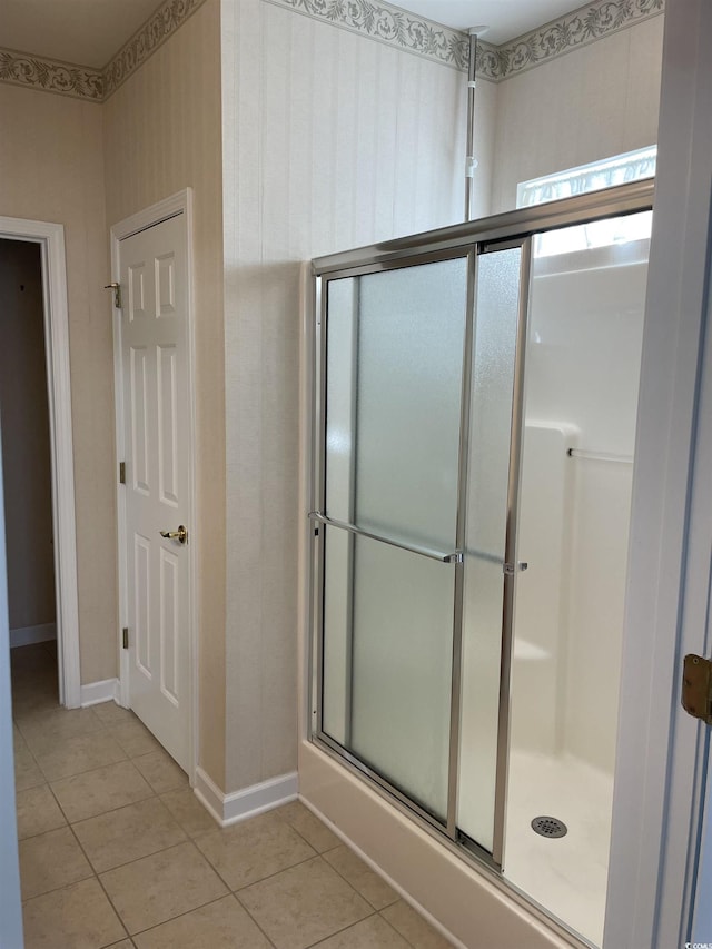
<instances>
[{"instance_id":1,"label":"whole metal-framed shower enclosure with frosted doors and white interior","mask_svg":"<svg viewBox=\"0 0 712 949\"><path fill-rule=\"evenodd\" d=\"M592 942L651 207L314 261L313 740Z\"/></svg>"}]
</instances>

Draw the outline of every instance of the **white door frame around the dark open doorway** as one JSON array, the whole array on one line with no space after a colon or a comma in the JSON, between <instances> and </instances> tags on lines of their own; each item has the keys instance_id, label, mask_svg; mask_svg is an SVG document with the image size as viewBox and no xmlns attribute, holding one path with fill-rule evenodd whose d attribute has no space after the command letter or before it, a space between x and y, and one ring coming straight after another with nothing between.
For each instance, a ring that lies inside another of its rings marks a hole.
<instances>
[{"instance_id":1,"label":"white door frame around the dark open doorway","mask_svg":"<svg viewBox=\"0 0 712 949\"><path fill-rule=\"evenodd\" d=\"M76 709L81 704L81 679L65 228L61 224L0 217L0 238L40 245L49 397L59 701L68 709Z\"/></svg>"}]
</instances>

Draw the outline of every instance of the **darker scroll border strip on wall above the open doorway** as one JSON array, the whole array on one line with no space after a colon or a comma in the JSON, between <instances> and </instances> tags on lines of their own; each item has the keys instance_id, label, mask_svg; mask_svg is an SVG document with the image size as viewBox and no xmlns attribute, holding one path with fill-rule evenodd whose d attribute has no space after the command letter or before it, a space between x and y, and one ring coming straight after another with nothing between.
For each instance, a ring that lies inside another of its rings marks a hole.
<instances>
[{"instance_id":1,"label":"darker scroll border strip on wall above the open doorway","mask_svg":"<svg viewBox=\"0 0 712 949\"><path fill-rule=\"evenodd\" d=\"M76 99L103 101L103 76L98 69L57 62L41 56L0 49L0 82L60 92Z\"/></svg>"}]
</instances>

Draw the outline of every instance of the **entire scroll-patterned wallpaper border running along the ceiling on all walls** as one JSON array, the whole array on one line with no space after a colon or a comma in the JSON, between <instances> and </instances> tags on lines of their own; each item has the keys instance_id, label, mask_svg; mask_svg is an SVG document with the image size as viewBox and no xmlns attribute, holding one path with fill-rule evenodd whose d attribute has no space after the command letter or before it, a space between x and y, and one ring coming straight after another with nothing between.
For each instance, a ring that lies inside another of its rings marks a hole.
<instances>
[{"instance_id":1,"label":"entire scroll-patterned wallpaper border running along the ceiling on all walls","mask_svg":"<svg viewBox=\"0 0 712 949\"><path fill-rule=\"evenodd\" d=\"M466 33L379 0L264 0L397 49L467 70ZM0 48L0 82L103 102L205 0L165 0L105 69ZM477 76L502 82L558 56L664 12L665 0L593 0L503 46L477 45Z\"/></svg>"}]
</instances>

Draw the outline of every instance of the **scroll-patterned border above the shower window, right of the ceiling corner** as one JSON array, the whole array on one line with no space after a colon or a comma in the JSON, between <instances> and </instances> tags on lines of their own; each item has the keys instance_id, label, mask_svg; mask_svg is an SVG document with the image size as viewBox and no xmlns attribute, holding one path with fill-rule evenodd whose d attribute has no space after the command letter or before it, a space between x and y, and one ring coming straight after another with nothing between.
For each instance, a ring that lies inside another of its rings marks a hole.
<instances>
[{"instance_id":1,"label":"scroll-patterned border above the shower window, right of the ceiling corner","mask_svg":"<svg viewBox=\"0 0 712 949\"><path fill-rule=\"evenodd\" d=\"M482 43L477 76L501 82L655 17L664 8L665 0L594 0L500 47Z\"/></svg>"}]
</instances>

